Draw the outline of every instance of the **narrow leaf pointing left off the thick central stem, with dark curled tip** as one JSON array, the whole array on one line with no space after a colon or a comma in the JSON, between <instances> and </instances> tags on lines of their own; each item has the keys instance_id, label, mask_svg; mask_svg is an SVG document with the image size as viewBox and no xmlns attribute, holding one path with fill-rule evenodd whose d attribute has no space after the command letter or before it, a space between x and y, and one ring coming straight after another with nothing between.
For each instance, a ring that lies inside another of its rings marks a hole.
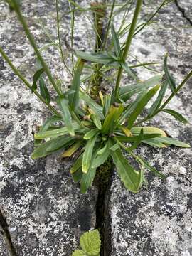
<instances>
[{"instance_id":1,"label":"narrow leaf pointing left off the thick central stem, with dark curled tip","mask_svg":"<svg viewBox=\"0 0 192 256\"><path fill-rule=\"evenodd\" d=\"M75 55L82 60L87 60L93 63L109 64L114 62L114 59L110 57L107 53L85 53L82 51L75 51Z\"/></svg>"}]
</instances>

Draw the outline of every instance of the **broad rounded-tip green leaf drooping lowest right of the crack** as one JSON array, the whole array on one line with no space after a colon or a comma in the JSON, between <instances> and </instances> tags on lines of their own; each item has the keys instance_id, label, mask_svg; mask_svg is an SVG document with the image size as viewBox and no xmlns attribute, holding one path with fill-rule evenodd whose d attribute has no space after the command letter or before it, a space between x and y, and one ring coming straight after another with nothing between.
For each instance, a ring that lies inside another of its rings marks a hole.
<instances>
[{"instance_id":1,"label":"broad rounded-tip green leaf drooping lowest right of the crack","mask_svg":"<svg viewBox=\"0 0 192 256\"><path fill-rule=\"evenodd\" d=\"M129 191L137 193L141 187L139 172L135 171L128 163L127 159L124 158L121 149L111 151L111 155L124 186L129 189Z\"/></svg>"}]
</instances>

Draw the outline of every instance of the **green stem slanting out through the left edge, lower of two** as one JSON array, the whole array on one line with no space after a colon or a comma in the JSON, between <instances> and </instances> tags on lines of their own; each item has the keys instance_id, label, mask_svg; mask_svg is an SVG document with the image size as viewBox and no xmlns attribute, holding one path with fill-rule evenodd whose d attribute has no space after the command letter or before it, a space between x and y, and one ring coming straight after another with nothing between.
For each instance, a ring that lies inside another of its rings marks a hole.
<instances>
[{"instance_id":1,"label":"green stem slanting out through the left edge, lower of two","mask_svg":"<svg viewBox=\"0 0 192 256\"><path fill-rule=\"evenodd\" d=\"M14 71L14 73L18 76L18 78L21 79L21 81L23 81L23 83L26 85L26 87L28 87L28 89L31 90L31 85L30 83L26 80L26 78L23 77L23 75L18 71L18 69L14 66L14 64L11 62L10 58L6 55L6 53L4 52L4 50L1 48L0 46L0 53L2 55L2 57L4 58L4 60L6 60L6 63L8 63L11 67L11 69ZM43 103L46 104L46 106L57 116L60 116L60 114L57 112L57 110L55 110L54 107L52 107L48 102L46 102L46 100L35 90L34 94L39 98L39 100L41 100Z\"/></svg>"}]
</instances>

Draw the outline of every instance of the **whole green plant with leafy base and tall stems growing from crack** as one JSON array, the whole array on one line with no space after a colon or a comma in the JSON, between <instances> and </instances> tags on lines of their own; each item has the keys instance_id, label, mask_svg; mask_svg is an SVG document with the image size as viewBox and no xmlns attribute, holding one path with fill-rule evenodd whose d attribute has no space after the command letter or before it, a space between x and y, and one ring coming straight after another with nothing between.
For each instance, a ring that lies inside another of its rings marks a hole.
<instances>
[{"instance_id":1,"label":"whole green plant with leafy base and tall stems growing from crack","mask_svg":"<svg viewBox=\"0 0 192 256\"><path fill-rule=\"evenodd\" d=\"M48 118L39 132L34 135L35 149L32 158L38 159L48 156L58 150L64 150L61 154L61 158L70 157L75 154L75 162L70 169L70 173L75 182L80 182L81 193L87 192L87 189L90 188L95 178L97 168L104 164L107 159L112 159L124 186L134 193L139 191L139 188L141 188L142 183L145 181L144 169L152 171L160 178L165 178L164 174L154 169L145 159L137 156L134 150L137 149L137 146L141 143L160 148L169 145L189 147L186 143L167 137L166 133L161 129L157 127L146 127L143 126L143 123L159 112L169 113L174 118L178 119L178 121L183 123L187 122L178 112L167 109L166 105L170 102L172 97L181 90L186 81L191 78L192 71L186 75L186 78L183 79L180 85L176 86L176 82L167 67L167 55L164 58L164 72L161 75L154 75L152 78L145 81L140 81L137 75L132 71L132 68L141 66L149 68L150 65L156 65L158 63L127 64L127 56L129 55L129 47L132 43L132 38L148 23L151 23L151 18L149 18L146 23L138 25L138 16L142 6L142 0L137 0L132 23L126 26L126 29L122 26L122 28L119 28L118 32L115 31L112 24L112 17L118 14L118 10L116 13L114 12L115 1L113 1L104 42L102 42L102 48L98 49L97 52L85 53L70 48L72 59L74 60L76 56L78 60L74 69L72 71L69 70L70 73L73 74L73 82L69 90L63 90L60 82L55 82L21 14L18 1L7 0L7 2L11 6L11 9L16 11L18 19L21 21L23 29L26 32L26 36L31 46L34 48L38 63L41 65L33 76L33 85L31 86L23 75L19 73L2 48L0 48L0 53L7 63L9 63L12 70L14 70L14 73L16 73L26 86L53 112L53 116ZM69 2L74 7L71 8L73 18L76 8L85 11L85 9L75 4L75 2L71 0ZM163 1L159 9L168 4L168 2L170 1ZM58 1L56 1L56 5L58 6ZM126 8L127 4L122 6L119 11ZM91 10L94 11L94 7L92 7ZM154 17L154 14L152 17ZM124 23L124 20L122 23ZM110 35L109 31L111 31L112 34L112 43L110 43L110 46L106 47L107 38ZM127 40L121 44L119 43L119 38L121 38L124 33L127 33ZM59 23L58 37L60 37ZM97 41L99 40L98 38L99 36L97 34ZM65 65L61 47L59 40L58 48L60 49L61 57ZM87 63L90 63L90 65L87 65ZM112 93L105 94L100 92L100 97L97 98L97 101L93 100L89 95L89 90L84 90L80 87L81 82L92 79L92 75L81 79L82 72L85 68L92 70L93 74L97 71L102 75L107 74L107 72L111 70L118 70L115 87ZM131 85L120 87L123 72L127 73L135 82ZM57 93L57 109L50 105L52 99L43 78L44 74L47 75L50 84L53 85ZM39 85L37 85L37 82L39 82ZM38 92L38 87L40 93ZM171 89L171 94L164 101L164 96L169 88ZM147 103L157 93L156 100L154 100L154 103L149 107L146 117L138 119ZM132 100L135 95L137 95L136 100ZM56 125L58 122L62 122L63 125ZM140 169L134 169L134 167L129 164L129 161L124 157L124 151L126 151L132 159L137 161ZM76 154L77 152L78 154Z\"/></svg>"}]
</instances>

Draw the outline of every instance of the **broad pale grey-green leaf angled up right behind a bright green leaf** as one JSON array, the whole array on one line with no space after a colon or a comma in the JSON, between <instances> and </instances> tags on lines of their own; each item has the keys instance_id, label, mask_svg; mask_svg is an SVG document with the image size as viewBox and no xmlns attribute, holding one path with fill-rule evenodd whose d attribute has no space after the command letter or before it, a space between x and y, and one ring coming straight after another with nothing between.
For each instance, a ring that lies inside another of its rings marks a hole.
<instances>
[{"instance_id":1,"label":"broad pale grey-green leaf angled up right behind a bright green leaf","mask_svg":"<svg viewBox=\"0 0 192 256\"><path fill-rule=\"evenodd\" d=\"M162 75L155 75L154 77L145 80L143 82L137 82L133 85L126 85L124 87L121 87L119 90L119 97L126 102L129 100L132 95L143 92L146 89L149 89L150 87L154 87L155 85L158 85L161 83Z\"/></svg>"}]
</instances>

